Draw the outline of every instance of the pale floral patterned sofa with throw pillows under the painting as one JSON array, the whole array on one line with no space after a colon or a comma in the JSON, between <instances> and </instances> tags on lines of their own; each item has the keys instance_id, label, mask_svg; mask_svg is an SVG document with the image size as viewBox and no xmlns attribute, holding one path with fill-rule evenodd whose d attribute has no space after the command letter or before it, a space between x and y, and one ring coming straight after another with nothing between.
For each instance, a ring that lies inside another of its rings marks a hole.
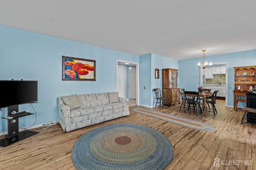
<instances>
[{"instance_id":1,"label":"pale floral patterned sofa with throw pillows under the painting","mask_svg":"<svg viewBox=\"0 0 256 170\"><path fill-rule=\"evenodd\" d=\"M58 98L57 122L66 132L129 115L128 99L118 92L81 94Z\"/></svg>"}]
</instances>

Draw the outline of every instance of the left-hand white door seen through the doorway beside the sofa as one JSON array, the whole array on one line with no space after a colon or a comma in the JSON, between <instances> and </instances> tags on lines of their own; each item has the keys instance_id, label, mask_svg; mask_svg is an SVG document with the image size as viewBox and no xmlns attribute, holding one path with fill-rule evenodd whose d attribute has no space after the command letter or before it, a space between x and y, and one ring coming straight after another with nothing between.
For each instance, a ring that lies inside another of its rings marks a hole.
<instances>
[{"instance_id":1,"label":"left-hand white door seen through the doorway beside the sofa","mask_svg":"<svg viewBox=\"0 0 256 170\"><path fill-rule=\"evenodd\" d=\"M120 98L126 98L126 67L118 65L118 95Z\"/></svg>"}]
</instances>

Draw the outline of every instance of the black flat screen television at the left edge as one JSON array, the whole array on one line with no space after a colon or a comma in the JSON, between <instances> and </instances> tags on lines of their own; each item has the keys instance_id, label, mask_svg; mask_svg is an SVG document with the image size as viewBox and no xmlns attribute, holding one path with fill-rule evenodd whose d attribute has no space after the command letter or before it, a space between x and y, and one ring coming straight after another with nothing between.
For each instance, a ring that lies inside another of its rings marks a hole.
<instances>
[{"instance_id":1,"label":"black flat screen television at the left edge","mask_svg":"<svg viewBox=\"0 0 256 170\"><path fill-rule=\"evenodd\" d=\"M0 80L0 108L37 102L38 81Z\"/></svg>"}]
</instances>

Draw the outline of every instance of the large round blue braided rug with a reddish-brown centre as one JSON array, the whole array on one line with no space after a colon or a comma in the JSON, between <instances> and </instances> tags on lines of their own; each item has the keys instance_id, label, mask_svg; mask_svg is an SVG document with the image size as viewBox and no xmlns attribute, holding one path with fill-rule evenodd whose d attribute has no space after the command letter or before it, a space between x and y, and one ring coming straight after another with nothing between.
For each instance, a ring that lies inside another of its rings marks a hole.
<instances>
[{"instance_id":1,"label":"large round blue braided rug with a reddish-brown centre","mask_svg":"<svg viewBox=\"0 0 256 170\"><path fill-rule=\"evenodd\" d=\"M78 170L163 170L172 162L170 140L151 127L113 124L80 137L71 158Z\"/></svg>"}]
</instances>

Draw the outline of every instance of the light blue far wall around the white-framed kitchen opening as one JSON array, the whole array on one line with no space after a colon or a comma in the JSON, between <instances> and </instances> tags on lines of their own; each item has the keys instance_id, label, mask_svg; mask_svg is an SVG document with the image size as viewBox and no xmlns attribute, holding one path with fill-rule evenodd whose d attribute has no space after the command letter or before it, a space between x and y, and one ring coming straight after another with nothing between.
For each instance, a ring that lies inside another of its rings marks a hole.
<instances>
[{"instance_id":1,"label":"light blue far wall around the white-framed kitchen opening","mask_svg":"<svg viewBox=\"0 0 256 170\"><path fill-rule=\"evenodd\" d=\"M228 106L233 106L234 67L256 65L256 50L208 56L205 57L205 60L212 61L212 63L228 61ZM200 86L200 69L198 69L197 63L202 61L203 57L179 61L178 82L180 88L194 91ZM244 103L239 103L238 107L244 105Z\"/></svg>"}]
</instances>

